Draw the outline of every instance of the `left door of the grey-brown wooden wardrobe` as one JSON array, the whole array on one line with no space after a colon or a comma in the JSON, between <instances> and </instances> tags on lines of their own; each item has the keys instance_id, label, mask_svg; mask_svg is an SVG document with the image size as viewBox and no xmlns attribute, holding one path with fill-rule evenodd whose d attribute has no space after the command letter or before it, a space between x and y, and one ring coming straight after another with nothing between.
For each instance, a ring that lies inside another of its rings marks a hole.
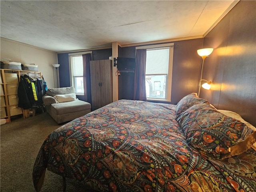
<instances>
[{"instance_id":1,"label":"left door of the grey-brown wooden wardrobe","mask_svg":"<svg viewBox=\"0 0 256 192\"><path fill-rule=\"evenodd\" d=\"M92 110L101 107L100 60L90 61Z\"/></svg>"}]
</instances>

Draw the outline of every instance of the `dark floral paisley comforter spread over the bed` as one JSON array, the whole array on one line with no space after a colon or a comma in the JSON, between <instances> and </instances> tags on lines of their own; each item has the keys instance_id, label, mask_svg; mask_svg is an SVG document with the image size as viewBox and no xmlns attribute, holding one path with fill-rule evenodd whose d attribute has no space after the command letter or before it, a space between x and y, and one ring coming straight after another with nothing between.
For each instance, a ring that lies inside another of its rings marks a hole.
<instances>
[{"instance_id":1,"label":"dark floral paisley comforter spread over the bed","mask_svg":"<svg viewBox=\"0 0 256 192\"><path fill-rule=\"evenodd\" d=\"M35 189L47 168L101 192L255 191L256 152L202 156L187 144L175 108L119 100L61 126L38 153Z\"/></svg>"}]
</instances>

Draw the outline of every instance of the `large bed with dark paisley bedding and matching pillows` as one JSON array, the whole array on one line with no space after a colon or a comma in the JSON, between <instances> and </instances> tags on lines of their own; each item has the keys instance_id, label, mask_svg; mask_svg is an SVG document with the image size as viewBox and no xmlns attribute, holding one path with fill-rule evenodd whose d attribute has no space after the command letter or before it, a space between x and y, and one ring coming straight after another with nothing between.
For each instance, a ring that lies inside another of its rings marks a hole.
<instances>
[{"instance_id":1,"label":"large bed with dark paisley bedding and matching pillows","mask_svg":"<svg viewBox=\"0 0 256 192\"><path fill-rule=\"evenodd\" d=\"M52 132L33 168L108 192L256 189L255 128L196 93L177 105L118 100Z\"/></svg>"}]
</instances>

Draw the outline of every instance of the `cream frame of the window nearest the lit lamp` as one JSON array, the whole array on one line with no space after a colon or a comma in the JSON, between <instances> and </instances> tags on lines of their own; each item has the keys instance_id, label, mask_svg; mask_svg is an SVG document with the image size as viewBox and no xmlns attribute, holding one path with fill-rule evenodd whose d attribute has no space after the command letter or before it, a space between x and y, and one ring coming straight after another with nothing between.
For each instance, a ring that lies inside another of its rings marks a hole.
<instances>
[{"instance_id":1,"label":"cream frame of the window nearest the lit lamp","mask_svg":"<svg viewBox=\"0 0 256 192\"><path fill-rule=\"evenodd\" d=\"M167 89L166 89L166 99L158 99L158 98L147 98L147 101L164 101L171 102L171 92L172 92L172 67L173 67L173 52L174 52L174 43L165 43L165 44L155 44L148 46L138 46L138 49L154 49L154 48L165 48L169 47L169 66L168 66L168 74L167 74ZM159 75L159 74L158 74Z\"/></svg>"}]
</instances>

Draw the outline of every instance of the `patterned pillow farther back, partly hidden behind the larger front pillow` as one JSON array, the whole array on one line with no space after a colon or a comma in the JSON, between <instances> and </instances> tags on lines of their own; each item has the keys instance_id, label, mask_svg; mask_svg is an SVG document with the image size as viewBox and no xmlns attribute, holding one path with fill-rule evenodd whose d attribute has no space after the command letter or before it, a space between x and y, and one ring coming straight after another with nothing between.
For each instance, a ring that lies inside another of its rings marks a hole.
<instances>
[{"instance_id":1,"label":"patterned pillow farther back, partly hidden behind the larger front pillow","mask_svg":"<svg viewBox=\"0 0 256 192\"><path fill-rule=\"evenodd\" d=\"M176 106L176 115L181 114L182 112L186 111L188 108L190 108L193 105L202 104L202 103L207 103L208 105L210 105L207 100L199 98L197 96L197 93L190 93L187 96L184 96L184 98L182 98L178 102Z\"/></svg>"}]
</instances>

